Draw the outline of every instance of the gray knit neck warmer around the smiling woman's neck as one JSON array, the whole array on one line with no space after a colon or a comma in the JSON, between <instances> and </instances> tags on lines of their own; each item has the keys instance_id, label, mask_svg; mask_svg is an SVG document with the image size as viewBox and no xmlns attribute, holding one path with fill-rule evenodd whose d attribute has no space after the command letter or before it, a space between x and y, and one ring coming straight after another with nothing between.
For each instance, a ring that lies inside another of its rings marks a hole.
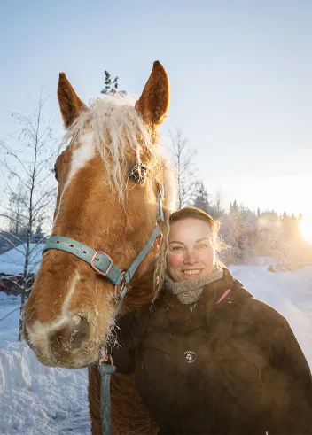
<instances>
[{"instance_id":1,"label":"gray knit neck warmer around the smiling woman's neck","mask_svg":"<svg viewBox=\"0 0 312 435\"><path fill-rule=\"evenodd\" d=\"M199 299L204 285L221 279L222 276L222 268L215 264L210 275L203 276L194 281L175 282L167 275L165 277L164 288L171 291L182 304L193 304Z\"/></svg>"}]
</instances>

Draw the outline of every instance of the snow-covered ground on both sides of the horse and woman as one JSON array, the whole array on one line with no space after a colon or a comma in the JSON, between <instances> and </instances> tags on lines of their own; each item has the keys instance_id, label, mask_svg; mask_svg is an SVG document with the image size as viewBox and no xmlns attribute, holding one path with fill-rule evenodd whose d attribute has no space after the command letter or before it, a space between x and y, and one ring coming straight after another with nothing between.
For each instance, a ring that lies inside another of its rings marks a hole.
<instances>
[{"instance_id":1,"label":"snow-covered ground on both sides of the horse and woman","mask_svg":"<svg viewBox=\"0 0 312 435\"><path fill-rule=\"evenodd\" d=\"M253 296L292 326L312 367L312 268L270 273L264 266L233 266ZM20 301L0 292L0 319ZM87 370L44 367L18 338L19 310L0 322L0 434L90 434Z\"/></svg>"}]
</instances>

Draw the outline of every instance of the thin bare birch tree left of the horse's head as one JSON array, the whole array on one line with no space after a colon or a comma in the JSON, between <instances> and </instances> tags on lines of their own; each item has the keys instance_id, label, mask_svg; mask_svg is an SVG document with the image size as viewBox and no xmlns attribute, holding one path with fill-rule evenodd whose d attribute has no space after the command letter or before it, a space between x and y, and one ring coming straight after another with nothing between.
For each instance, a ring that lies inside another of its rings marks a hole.
<instances>
[{"instance_id":1,"label":"thin bare birch tree left of the horse's head","mask_svg":"<svg viewBox=\"0 0 312 435\"><path fill-rule=\"evenodd\" d=\"M32 113L12 113L19 126L16 144L13 137L13 144L0 141L4 186L4 198L0 205L1 222L4 223L0 238L19 252L23 259L22 276L12 274L5 279L11 280L20 289L22 306L34 279L35 264L32 262L44 242L42 228L45 225L49 229L56 198L56 185L51 178L55 143L51 122L46 122L43 116L45 102L41 94Z\"/></svg>"}]
</instances>

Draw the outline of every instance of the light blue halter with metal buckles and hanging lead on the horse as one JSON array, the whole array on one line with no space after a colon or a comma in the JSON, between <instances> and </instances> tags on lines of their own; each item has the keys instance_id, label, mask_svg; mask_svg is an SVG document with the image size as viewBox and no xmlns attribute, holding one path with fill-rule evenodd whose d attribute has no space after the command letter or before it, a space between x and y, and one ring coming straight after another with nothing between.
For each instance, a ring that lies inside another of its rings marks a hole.
<instances>
[{"instance_id":1,"label":"light blue halter with metal buckles and hanging lead on the horse","mask_svg":"<svg viewBox=\"0 0 312 435\"><path fill-rule=\"evenodd\" d=\"M73 238L62 236L51 236L47 239L46 245L43 248L43 252L49 249L59 249L60 251L70 252L81 260L90 264L91 268L101 276L105 276L111 283L114 284L114 297L117 300L115 314L117 315L123 299L127 293L126 284L129 283L132 276L134 276L136 269L140 263L144 260L147 253L151 251L157 237L162 237L160 230L160 223L164 221L164 213L162 208L162 198L164 197L164 189L162 184L159 184L159 190L157 192L157 223L152 231L150 238L142 251L133 260L130 267L121 271L113 264L113 260L109 255L103 251L95 251L89 246L83 245L77 242ZM100 364L98 370L101 375L101 418L102 418L102 433L103 435L111 434L111 400L110 400L110 378L115 371L113 360L111 359L111 365Z\"/></svg>"}]
</instances>

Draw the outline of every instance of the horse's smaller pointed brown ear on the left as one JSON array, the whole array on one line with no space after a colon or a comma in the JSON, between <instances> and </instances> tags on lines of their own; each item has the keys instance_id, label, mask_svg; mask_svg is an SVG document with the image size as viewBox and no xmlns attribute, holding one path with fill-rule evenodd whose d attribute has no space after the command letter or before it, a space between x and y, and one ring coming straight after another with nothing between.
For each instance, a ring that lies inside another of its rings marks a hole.
<instances>
[{"instance_id":1,"label":"horse's smaller pointed brown ear on the left","mask_svg":"<svg viewBox=\"0 0 312 435\"><path fill-rule=\"evenodd\" d=\"M82 110L87 107L76 94L65 73L59 73L58 104L66 128L70 127Z\"/></svg>"}]
</instances>

